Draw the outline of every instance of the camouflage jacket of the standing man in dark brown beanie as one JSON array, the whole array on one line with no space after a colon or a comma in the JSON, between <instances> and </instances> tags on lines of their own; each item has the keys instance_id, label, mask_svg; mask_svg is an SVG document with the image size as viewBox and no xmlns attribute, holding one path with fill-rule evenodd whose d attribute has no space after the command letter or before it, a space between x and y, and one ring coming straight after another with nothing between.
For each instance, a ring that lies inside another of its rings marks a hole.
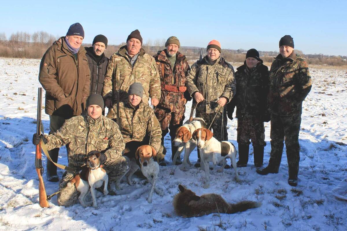
<instances>
[{"instance_id":1,"label":"camouflage jacket of the standing man in dark brown beanie","mask_svg":"<svg viewBox=\"0 0 347 231\"><path fill-rule=\"evenodd\" d=\"M144 89L143 102L148 104L149 97L159 100L160 79L154 58L141 48L132 66L126 51L126 46L123 46L110 57L102 96L105 99L112 98L113 103L116 103L119 90L120 101L127 102L129 86L134 82L141 82Z\"/></svg>"}]
</instances>

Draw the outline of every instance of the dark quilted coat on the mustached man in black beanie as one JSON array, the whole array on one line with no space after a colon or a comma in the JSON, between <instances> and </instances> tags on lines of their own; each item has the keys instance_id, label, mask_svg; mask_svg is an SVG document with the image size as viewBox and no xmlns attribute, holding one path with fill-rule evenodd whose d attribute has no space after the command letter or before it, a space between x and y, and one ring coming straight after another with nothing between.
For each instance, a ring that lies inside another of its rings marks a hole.
<instances>
[{"instance_id":1,"label":"dark quilted coat on the mustached man in black beanie","mask_svg":"<svg viewBox=\"0 0 347 231\"><path fill-rule=\"evenodd\" d=\"M103 53L99 63L96 63L93 55L93 47L86 47L85 49L87 51L86 56L90 69L90 94L95 93L101 95L109 58Z\"/></svg>"}]
</instances>

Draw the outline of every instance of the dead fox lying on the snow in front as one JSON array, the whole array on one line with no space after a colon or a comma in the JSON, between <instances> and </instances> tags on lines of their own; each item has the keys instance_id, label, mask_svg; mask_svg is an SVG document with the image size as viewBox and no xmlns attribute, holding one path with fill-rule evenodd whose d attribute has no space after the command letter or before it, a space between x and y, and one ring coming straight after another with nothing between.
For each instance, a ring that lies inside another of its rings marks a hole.
<instances>
[{"instance_id":1,"label":"dead fox lying on the snow in front","mask_svg":"<svg viewBox=\"0 0 347 231\"><path fill-rule=\"evenodd\" d=\"M218 194L209 193L199 197L182 185L178 185L178 188L180 192L174 198L174 208L177 215L182 217L197 217L211 213L231 214L261 206L260 202L249 200L229 204Z\"/></svg>"}]
</instances>

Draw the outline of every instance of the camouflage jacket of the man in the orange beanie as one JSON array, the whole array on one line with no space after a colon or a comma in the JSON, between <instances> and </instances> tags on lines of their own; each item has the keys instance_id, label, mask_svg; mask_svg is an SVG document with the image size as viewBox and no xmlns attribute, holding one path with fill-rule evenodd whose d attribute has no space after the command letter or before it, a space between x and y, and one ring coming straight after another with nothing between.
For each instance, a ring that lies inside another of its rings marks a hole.
<instances>
[{"instance_id":1,"label":"camouflage jacket of the man in the orange beanie","mask_svg":"<svg viewBox=\"0 0 347 231\"><path fill-rule=\"evenodd\" d=\"M198 104L196 110L206 113L217 112L217 101L225 97L230 102L236 93L236 81L234 68L224 58L219 57L211 65L205 56L201 61L195 62L187 74L186 86L189 94L199 91L205 100Z\"/></svg>"}]
</instances>

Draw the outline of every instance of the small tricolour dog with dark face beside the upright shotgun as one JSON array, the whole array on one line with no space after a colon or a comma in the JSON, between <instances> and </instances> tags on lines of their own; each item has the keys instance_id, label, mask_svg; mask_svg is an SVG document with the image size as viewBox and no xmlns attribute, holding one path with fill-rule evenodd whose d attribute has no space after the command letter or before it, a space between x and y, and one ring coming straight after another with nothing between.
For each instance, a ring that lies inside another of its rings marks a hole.
<instances>
[{"instance_id":1,"label":"small tricolour dog with dark face beside the upright shotgun","mask_svg":"<svg viewBox=\"0 0 347 231\"><path fill-rule=\"evenodd\" d=\"M95 188L99 188L104 183L104 195L108 194L107 184L108 184L108 175L106 174L105 169L102 168L102 165L99 160L100 152L91 151L84 157L86 167L83 168L74 178L72 178L67 186L74 184L76 190L81 194L78 197L79 202L83 207L87 207L88 204L84 200L87 193L92 194L93 207L96 208L96 198L95 198Z\"/></svg>"}]
</instances>

